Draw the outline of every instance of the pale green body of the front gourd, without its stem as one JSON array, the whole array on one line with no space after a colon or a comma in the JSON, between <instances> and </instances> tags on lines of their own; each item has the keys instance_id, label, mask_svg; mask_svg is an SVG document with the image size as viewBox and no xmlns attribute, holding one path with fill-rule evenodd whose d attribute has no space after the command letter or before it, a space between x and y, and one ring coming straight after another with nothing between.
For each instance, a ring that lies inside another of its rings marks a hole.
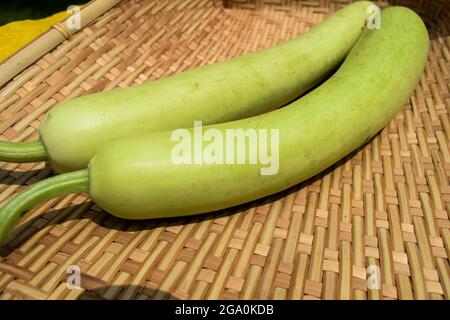
<instances>
[{"instance_id":1,"label":"pale green body of the front gourd, without its stem","mask_svg":"<svg viewBox=\"0 0 450 320\"><path fill-rule=\"evenodd\" d=\"M381 23L380 30L364 31L337 73L303 98L264 115L204 127L278 128L278 174L261 176L260 165L175 165L171 132L144 134L114 141L92 158L92 199L127 219L182 216L252 201L326 169L381 130L423 72L429 40L422 20L391 7L382 11Z\"/></svg>"}]
</instances>

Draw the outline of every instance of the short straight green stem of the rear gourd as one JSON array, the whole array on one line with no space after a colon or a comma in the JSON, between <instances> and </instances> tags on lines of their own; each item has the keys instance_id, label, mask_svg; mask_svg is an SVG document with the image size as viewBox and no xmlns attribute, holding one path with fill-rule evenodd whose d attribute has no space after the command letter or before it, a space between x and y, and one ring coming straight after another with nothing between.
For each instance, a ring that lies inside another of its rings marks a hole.
<instances>
[{"instance_id":1,"label":"short straight green stem of the rear gourd","mask_svg":"<svg viewBox=\"0 0 450 320\"><path fill-rule=\"evenodd\" d=\"M40 139L30 142L0 141L0 161L38 162L47 158L47 151Z\"/></svg>"}]
</instances>

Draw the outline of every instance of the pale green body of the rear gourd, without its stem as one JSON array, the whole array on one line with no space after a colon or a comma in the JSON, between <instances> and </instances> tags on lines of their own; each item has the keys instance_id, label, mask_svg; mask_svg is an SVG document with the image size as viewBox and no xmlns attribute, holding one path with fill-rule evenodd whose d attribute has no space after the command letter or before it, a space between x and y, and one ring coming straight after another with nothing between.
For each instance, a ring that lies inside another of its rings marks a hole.
<instances>
[{"instance_id":1,"label":"pale green body of the rear gourd, without its stem","mask_svg":"<svg viewBox=\"0 0 450 320\"><path fill-rule=\"evenodd\" d=\"M246 118L274 110L345 58L371 2L347 6L284 44L140 86L79 97L52 109L39 132L57 172L86 168L119 137Z\"/></svg>"}]
</instances>

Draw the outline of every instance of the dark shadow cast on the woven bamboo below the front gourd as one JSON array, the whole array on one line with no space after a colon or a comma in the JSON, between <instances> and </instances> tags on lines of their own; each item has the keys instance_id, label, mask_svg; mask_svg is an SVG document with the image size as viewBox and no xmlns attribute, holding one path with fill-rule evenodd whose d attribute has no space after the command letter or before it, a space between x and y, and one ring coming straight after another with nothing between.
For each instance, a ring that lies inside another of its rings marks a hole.
<instances>
[{"instance_id":1,"label":"dark shadow cast on the woven bamboo below the front gourd","mask_svg":"<svg viewBox=\"0 0 450 320\"><path fill-rule=\"evenodd\" d=\"M377 137L375 135L375 137ZM0 248L0 257L7 257L11 252L13 252L16 248L20 247L22 243L24 243L27 239L34 236L36 232L39 230L46 228L50 225L61 224L71 220L80 220L80 219L90 219L94 221L99 227L105 229L113 229L119 231L127 231L130 228L133 231L143 231L143 230L152 230L159 227L169 227L169 226L182 226L191 223L200 223L207 220L214 220L222 217L232 216L234 214L256 208L258 206L263 206L266 204L273 203L277 200L284 198L285 196L295 193L302 188L313 184L317 180L320 180L323 176L333 172L334 169L344 165L347 161L352 159L356 154L358 154L361 150L363 150L374 138L370 139L360 148L356 149L348 156L344 157L334 165L328 167L321 173L316 176L299 183L289 189L284 191L280 191L273 195L264 197L262 199L258 199L252 202L248 202L239 206L235 206L232 208L215 211L211 213L191 215L185 217L174 217L174 218L159 218L159 219L148 219L148 220L126 220L114 217L108 214L106 211L101 210L100 214L97 214L96 210L92 210L95 214L89 214L89 211L95 207L95 204L92 201L87 201L85 203L79 205L71 205L63 209L51 210L49 212L44 213L46 223L42 222L42 216L35 217L30 219L26 223L14 229L10 240L4 247ZM78 211L77 211L78 210ZM79 212L77 214L77 212ZM93 217L92 217L93 216ZM44 234L43 237L47 236ZM76 235L74 236L76 237ZM39 240L38 240L39 241Z\"/></svg>"}]
</instances>

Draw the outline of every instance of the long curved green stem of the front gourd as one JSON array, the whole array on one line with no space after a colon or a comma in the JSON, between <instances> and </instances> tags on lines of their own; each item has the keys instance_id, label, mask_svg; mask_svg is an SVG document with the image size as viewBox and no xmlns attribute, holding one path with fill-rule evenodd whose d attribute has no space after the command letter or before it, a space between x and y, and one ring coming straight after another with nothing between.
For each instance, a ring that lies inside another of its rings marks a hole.
<instances>
[{"instance_id":1,"label":"long curved green stem of the front gourd","mask_svg":"<svg viewBox=\"0 0 450 320\"><path fill-rule=\"evenodd\" d=\"M28 210L58 196L88 191L88 169L61 174L34 184L0 209L0 245L4 244L11 230Z\"/></svg>"}]
</instances>

